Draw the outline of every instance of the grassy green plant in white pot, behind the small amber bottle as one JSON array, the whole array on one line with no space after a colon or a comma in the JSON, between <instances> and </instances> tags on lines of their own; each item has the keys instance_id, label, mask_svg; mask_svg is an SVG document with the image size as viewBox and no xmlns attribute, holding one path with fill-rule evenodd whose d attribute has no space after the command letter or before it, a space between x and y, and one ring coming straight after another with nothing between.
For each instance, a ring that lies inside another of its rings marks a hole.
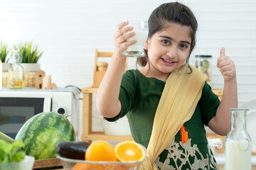
<instances>
[{"instance_id":1,"label":"grassy green plant in white pot, behind the small amber bottle","mask_svg":"<svg viewBox=\"0 0 256 170\"><path fill-rule=\"evenodd\" d=\"M38 45L33 45L33 42L19 42L18 45L14 45L14 50L18 50L21 55L24 72L40 70L40 64L37 62L43 55L43 51L38 50Z\"/></svg>"}]
</instances>

